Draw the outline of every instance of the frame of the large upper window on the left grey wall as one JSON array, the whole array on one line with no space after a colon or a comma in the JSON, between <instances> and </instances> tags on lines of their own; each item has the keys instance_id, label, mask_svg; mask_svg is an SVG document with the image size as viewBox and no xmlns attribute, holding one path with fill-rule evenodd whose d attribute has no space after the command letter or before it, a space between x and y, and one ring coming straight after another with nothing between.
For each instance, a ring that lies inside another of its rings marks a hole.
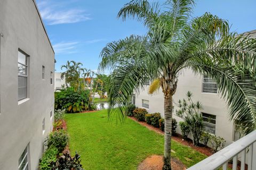
<instances>
[{"instance_id":1,"label":"frame of the large upper window on the left grey wall","mask_svg":"<svg viewBox=\"0 0 256 170\"><path fill-rule=\"evenodd\" d=\"M19 53L25 55L25 64L19 62ZM28 57L29 55L25 52L23 52L22 50L18 49L18 101L21 101L23 99L27 99L28 98L28 69L29 69L29 66L28 66ZM19 74L19 64L21 64L22 66L24 66L26 68L26 75L23 75L23 74ZM19 99L19 88L24 88L24 87L20 87L19 86L19 77L26 77L26 96L23 97L23 98L20 98Z\"/></svg>"}]
</instances>

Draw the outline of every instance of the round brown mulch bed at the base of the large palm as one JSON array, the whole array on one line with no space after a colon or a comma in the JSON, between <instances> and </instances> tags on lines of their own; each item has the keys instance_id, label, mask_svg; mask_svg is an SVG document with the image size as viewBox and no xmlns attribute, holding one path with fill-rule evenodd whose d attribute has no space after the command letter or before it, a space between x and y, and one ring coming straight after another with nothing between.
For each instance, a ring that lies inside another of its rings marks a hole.
<instances>
[{"instance_id":1,"label":"round brown mulch bed at the base of the large palm","mask_svg":"<svg viewBox=\"0 0 256 170\"><path fill-rule=\"evenodd\" d=\"M143 160L138 166L138 170L162 170L163 156L152 155ZM172 170L186 170L186 167L176 158L171 159Z\"/></svg>"}]
</instances>

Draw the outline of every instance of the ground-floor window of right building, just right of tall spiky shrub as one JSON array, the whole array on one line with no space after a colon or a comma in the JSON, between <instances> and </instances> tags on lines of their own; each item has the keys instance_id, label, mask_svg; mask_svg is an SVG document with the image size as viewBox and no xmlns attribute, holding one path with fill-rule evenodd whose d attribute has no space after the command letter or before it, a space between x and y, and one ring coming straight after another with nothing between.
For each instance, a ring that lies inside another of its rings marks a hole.
<instances>
[{"instance_id":1,"label":"ground-floor window of right building, just right of tall spiky shrub","mask_svg":"<svg viewBox=\"0 0 256 170\"><path fill-rule=\"evenodd\" d=\"M202 113L204 131L215 134L216 116Z\"/></svg>"}]
</instances>

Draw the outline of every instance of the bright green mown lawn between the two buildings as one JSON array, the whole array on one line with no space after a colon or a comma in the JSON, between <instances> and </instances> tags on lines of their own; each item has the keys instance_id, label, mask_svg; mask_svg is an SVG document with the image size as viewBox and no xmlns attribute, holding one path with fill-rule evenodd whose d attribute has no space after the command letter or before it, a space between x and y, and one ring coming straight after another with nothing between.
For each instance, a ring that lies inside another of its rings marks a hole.
<instances>
[{"instance_id":1,"label":"bright green mown lawn between the two buildings","mask_svg":"<svg viewBox=\"0 0 256 170\"><path fill-rule=\"evenodd\" d=\"M81 154L87 169L137 169L150 155L163 155L164 137L144 126L126 119L122 125L109 123L107 111L87 114L66 114L69 148ZM206 158L189 147L172 141L173 157L187 167Z\"/></svg>"}]
</instances>

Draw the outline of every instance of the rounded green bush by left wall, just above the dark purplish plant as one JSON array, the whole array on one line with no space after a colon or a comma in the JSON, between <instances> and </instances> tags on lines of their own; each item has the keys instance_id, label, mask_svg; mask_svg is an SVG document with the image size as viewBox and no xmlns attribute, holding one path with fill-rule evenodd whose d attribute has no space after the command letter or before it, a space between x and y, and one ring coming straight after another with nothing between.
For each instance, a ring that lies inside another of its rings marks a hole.
<instances>
[{"instance_id":1,"label":"rounded green bush by left wall, just above the dark purplish plant","mask_svg":"<svg viewBox=\"0 0 256 170\"><path fill-rule=\"evenodd\" d=\"M45 145L50 147L56 147L59 152L64 150L68 144L68 134L66 131L60 129L59 131L54 131L49 134L45 140Z\"/></svg>"}]
</instances>

